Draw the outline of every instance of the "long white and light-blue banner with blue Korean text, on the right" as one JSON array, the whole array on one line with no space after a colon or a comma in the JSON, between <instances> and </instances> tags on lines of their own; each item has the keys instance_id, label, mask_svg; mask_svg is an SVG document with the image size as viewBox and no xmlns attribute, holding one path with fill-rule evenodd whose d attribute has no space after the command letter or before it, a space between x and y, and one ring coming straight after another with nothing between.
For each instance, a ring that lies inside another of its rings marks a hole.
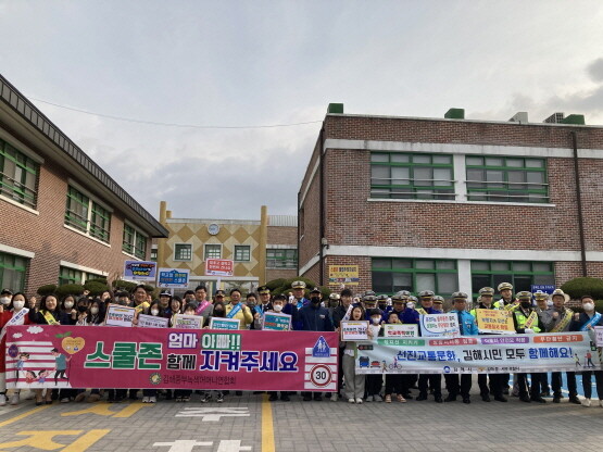
<instances>
[{"instance_id":1,"label":"long white and light-blue banner with blue Korean text, on the right","mask_svg":"<svg viewBox=\"0 0 603 452\"><path fill-rule=\"evenodd\" d=\"M588 332L513 336L379 338L359 346L359 374L507 374L596 371Z\"/></svg>"}]
</instances>

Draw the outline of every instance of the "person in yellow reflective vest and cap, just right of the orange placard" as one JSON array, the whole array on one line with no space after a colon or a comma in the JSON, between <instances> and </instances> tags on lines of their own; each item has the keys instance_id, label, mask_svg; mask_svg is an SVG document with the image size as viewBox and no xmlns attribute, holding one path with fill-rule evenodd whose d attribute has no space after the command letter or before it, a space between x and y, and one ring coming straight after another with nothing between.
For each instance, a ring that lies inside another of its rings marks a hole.
<instances>
[{"instance_id":1,"label":"person in yellow reflective vest and cap, just right of the orange placard","mask_svg":"<svg viewBox=\"0 0 603 452\"><path fill-rule=\"evenodd\" d=\"M538 312L532 307L531 297L528 291L517 292L515 296L519 300L519 307L513 311L513 323L515 324L515 331L523 334L538 334L544 331L544 325L540 319ZM515 374L517 377L517 385L519 390L519 400L523 402L539 402L547 403L542 395L540 395L541 388L541 373L532 373L531 385L528 394L527 374Z\"/></svg>"}]
</instances>

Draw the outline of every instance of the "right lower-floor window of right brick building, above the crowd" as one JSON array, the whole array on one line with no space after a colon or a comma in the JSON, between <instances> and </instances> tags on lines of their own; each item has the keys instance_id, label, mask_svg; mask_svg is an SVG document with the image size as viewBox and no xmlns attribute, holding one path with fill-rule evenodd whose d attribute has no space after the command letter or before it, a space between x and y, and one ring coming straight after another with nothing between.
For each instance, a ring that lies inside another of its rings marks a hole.
<instances>
[{"instance_id":1,"label":"right lower-floor window of right brick building, above the crowd","mask_svg":"<svg viewBox=\"0 0 603 452\"><path fill-rule=\"evenodd\" d=\"M511 282L515 293L529 291L532 285L554 285L554 267L551 262L472 261L474 297L482 287L497 290L501 282Z\"/></svg>"}]
</instances>

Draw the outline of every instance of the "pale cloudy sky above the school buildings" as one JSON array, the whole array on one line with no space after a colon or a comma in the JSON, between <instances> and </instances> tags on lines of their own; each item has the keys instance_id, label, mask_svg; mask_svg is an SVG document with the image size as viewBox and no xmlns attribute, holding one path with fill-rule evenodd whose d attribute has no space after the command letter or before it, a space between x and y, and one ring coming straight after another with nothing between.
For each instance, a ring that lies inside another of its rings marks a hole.
<instances>
[{"instance_id":1,"label":"pale cloudy sky above the school buildings","mask_svg":"<svg viewBox=\"0 0 603 452\"><path fill-rule=\"evenodd\" d=\"M155 216L296 214L330 102L603 125L599 0L0 0L0 42L2 75Z\"/></svg>"}]
</instances>

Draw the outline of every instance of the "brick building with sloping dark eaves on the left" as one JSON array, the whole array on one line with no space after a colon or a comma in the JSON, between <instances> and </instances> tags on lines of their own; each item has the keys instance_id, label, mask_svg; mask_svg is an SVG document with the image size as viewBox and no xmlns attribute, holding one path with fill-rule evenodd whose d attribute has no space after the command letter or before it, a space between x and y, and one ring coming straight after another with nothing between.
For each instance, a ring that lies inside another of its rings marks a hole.
<instances>
[{"instance_id":1,"label":"brick building with sloping dark eaves on the left","mask_svg":"<svg viewBox=\"0 0 603 452\"><path fill-rule=\"evenodd\" d=\"M0 76L0 285L117 277L167 231Z\"/></svg>"}]
</instances>

